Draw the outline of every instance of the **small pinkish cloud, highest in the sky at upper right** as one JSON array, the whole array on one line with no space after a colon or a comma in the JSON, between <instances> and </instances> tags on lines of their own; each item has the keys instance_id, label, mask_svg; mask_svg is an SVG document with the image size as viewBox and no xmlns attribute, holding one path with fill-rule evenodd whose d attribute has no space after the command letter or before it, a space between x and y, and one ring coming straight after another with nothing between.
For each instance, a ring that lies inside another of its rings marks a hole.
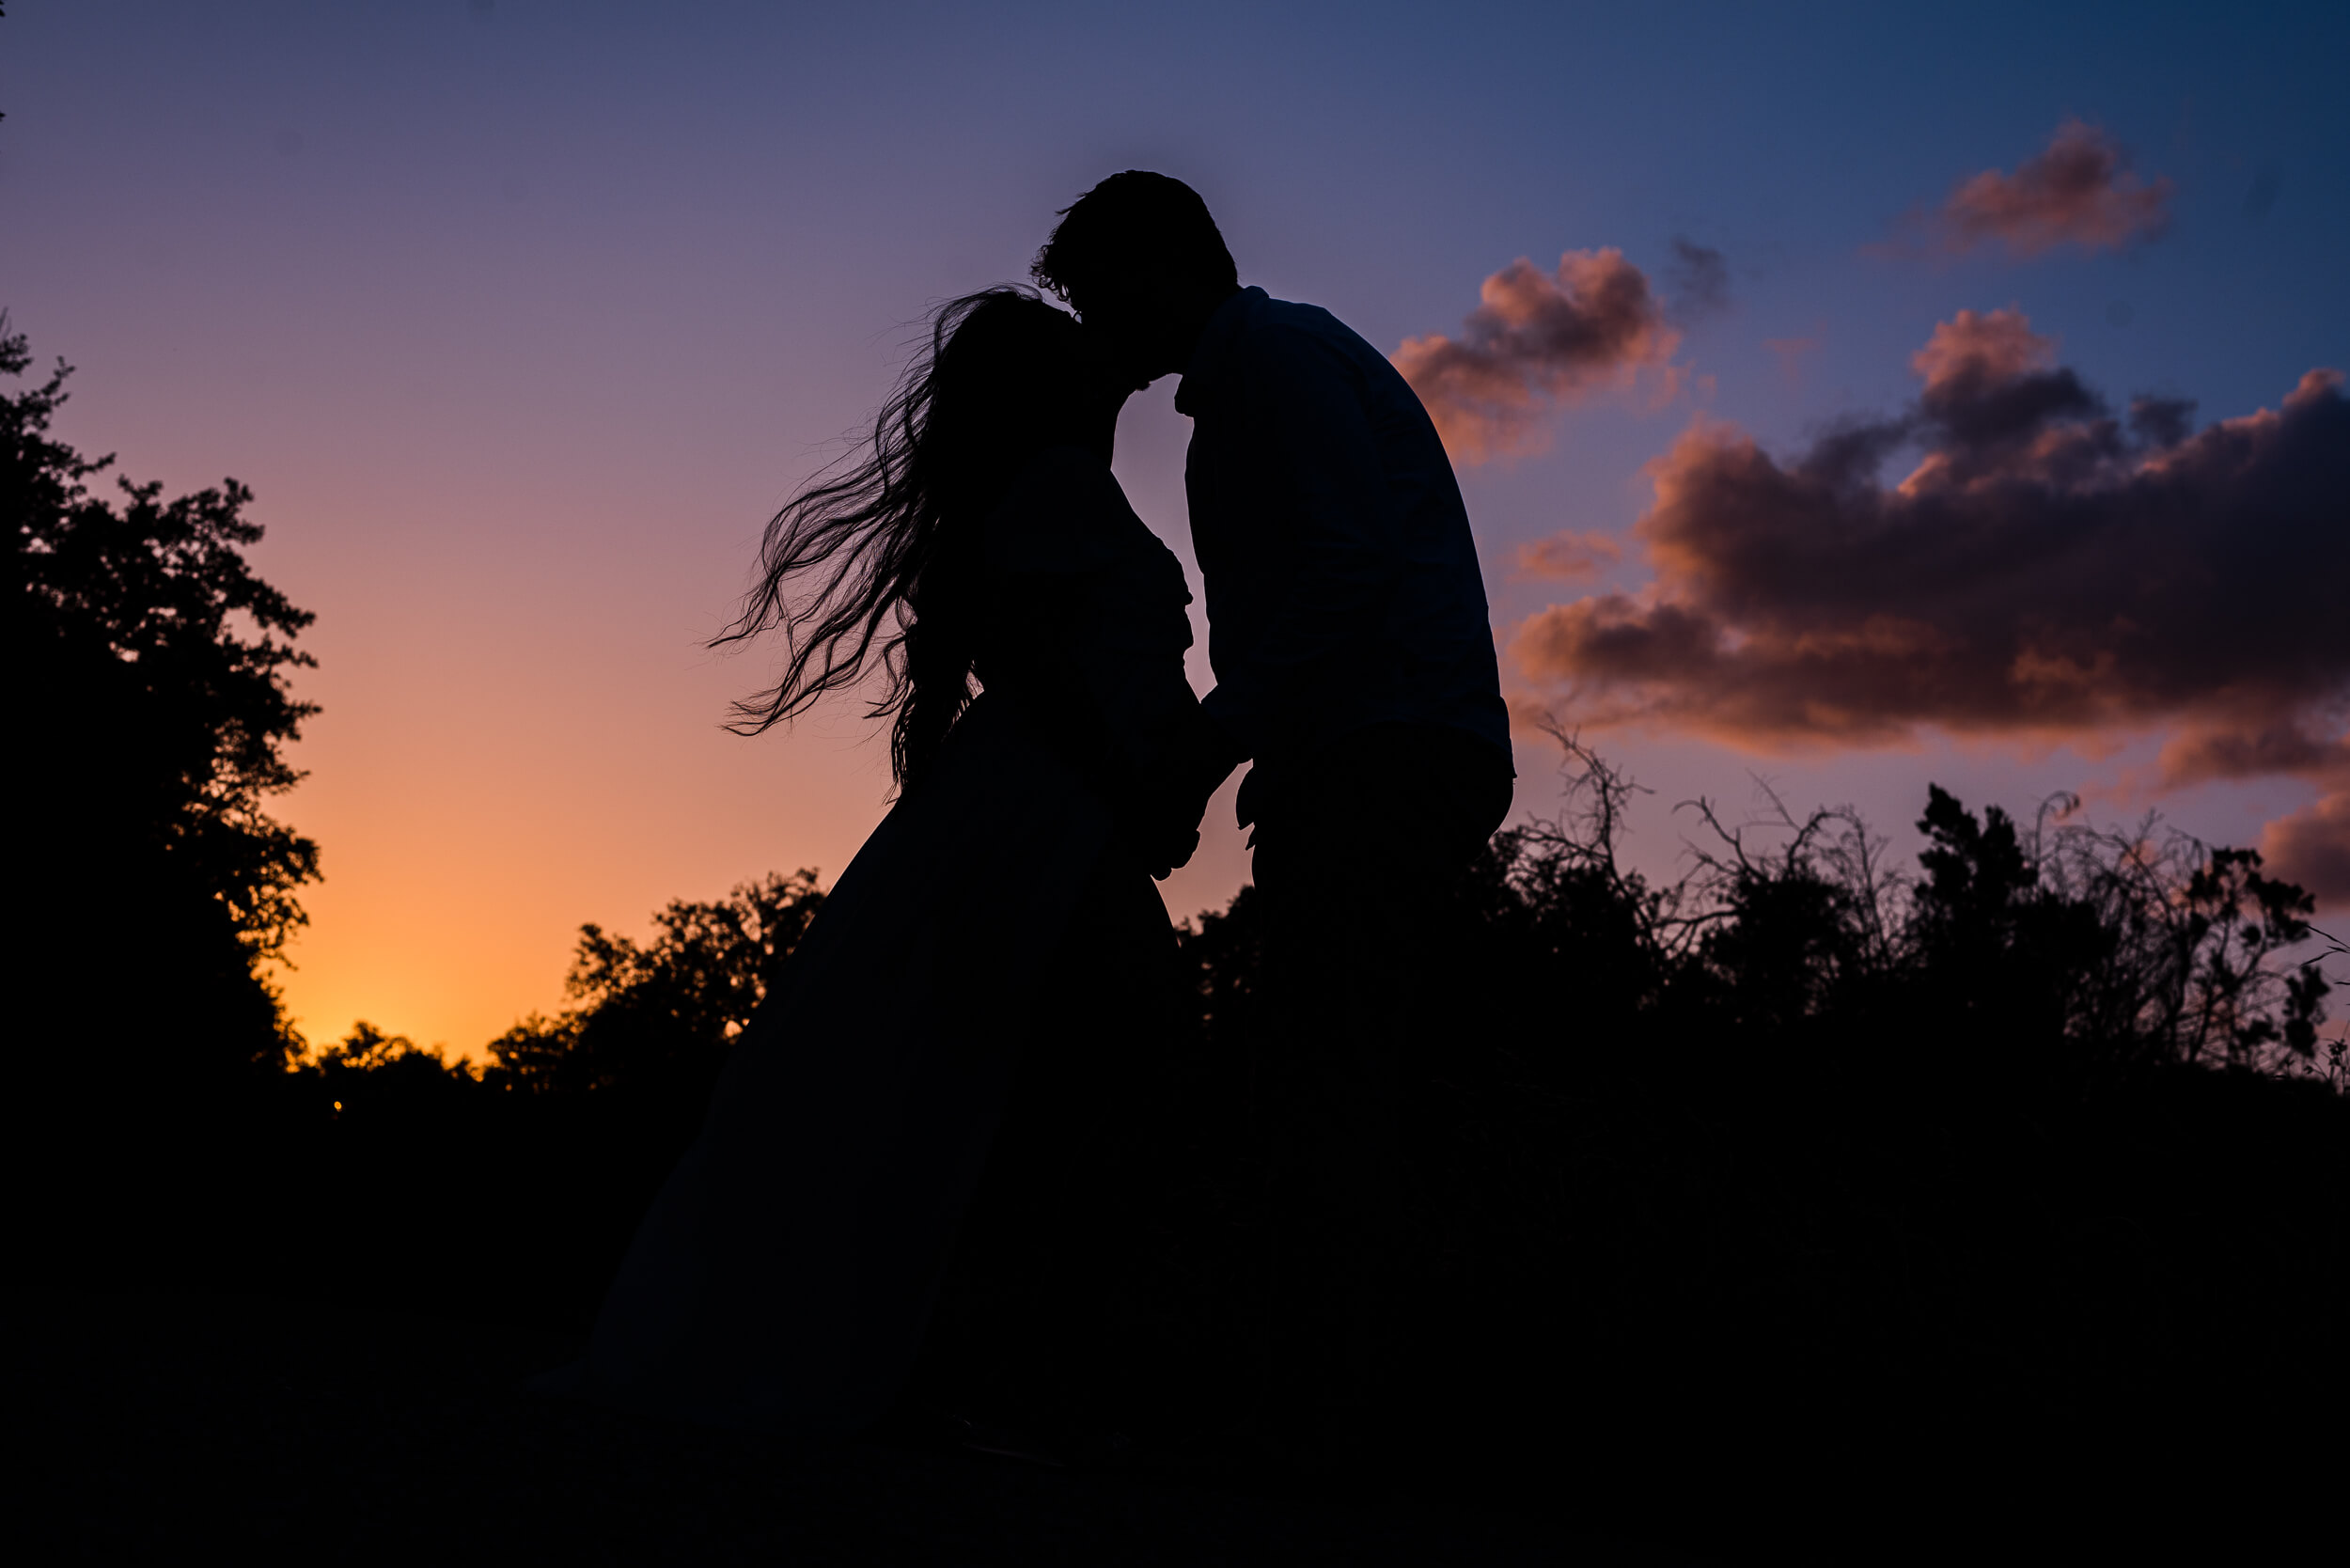
<instances>
[{"instance_id":1,"label":"small pinkish cloud, highest in the sky at upper right","mask_svg":"<svg viewBox=\"0 0 2350 1568\"><path fill-rule=\"evenodd\" d=\"M1929 223L1932 247L1972 252L2002 244L2009 256L2040 256L2061 244L2084 252L2124 249L2169 228L2171 181L2129 169L2129 153L2080 120L2056 127L2044 153L2014 174L1983 169L1950 190Z\"/></svg>"}]
</instances>

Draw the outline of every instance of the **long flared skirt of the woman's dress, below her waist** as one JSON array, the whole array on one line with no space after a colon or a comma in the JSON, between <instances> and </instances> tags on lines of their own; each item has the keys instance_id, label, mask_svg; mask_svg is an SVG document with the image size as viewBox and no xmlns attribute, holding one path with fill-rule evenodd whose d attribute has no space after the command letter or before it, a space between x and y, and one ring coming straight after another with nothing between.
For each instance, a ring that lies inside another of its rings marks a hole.
<instances>
[{"instance_id":1,"label":"long flared skirt of the woman's dress, below her waist","mask_svg":"<svg viewBox=\"0 0 2350 1568\"><path fill-rule=\"evenodd\" d=\"M877 1422L1112 832L1102 795L980 696L827 893L637 1229L588 1359L543 1387L773 1434Z\"/></svg>"}]
</instances>

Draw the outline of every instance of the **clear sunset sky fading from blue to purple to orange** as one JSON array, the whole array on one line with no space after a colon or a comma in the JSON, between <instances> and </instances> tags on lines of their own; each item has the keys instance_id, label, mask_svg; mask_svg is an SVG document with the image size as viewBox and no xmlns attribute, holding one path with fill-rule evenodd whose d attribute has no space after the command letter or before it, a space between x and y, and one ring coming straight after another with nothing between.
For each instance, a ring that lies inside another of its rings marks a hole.
<instances>
[{"instance_id":1,"label":"clear sunset sky fading from blue to purple to orange","mask_svg":"<svg viewBox=\"0 0 2350 1568\"><path fill-rule=\"evenodd\" d=\"M1386 350L1459 339L1518 256L1617 247L1654 284L1668 360L1537 407L1539 451L1462 463L1506 642L1582 595L1654 592L1633 524L1692 423L1784 454L1887 416L1960 310L2019 310L2115 404L2193 397L2197 423L2350 369L2343 59L2338 5L21 0L0 306L80 367L66 440L174 491L251 484L263 576L317 611L298 689L324 712L280 802L327 870L284 976L298 1025L475 1053L559 1004L580 922L830 879L879 820L860 715L731 738L766 663L703 642L907 324L1025 277L1102 174L1187 179L1246 282ZM1960 181L2012 176L2070 120L2141 188L2169 181L2160 233L1962 249ZM1713 308L1676 287L1676 240L1720 252ZM1170 393L1130 404L1119 475L1189 567ZM1516 569L1560 531L1622 562ZM1657 790L1633 823L1654 870L1690 830L1673 802L1744 811L1755 773L1859 804L1904 853L1927 780L2021 809L2084 790L2235 844L2326 788L2153 785L2160 722L1593 738ZM1518 811L1549 811L1553 755L1518 755ZM1170 907L1222 903L1246 860L1227 790Z\"/></svg>"}]
</instances>

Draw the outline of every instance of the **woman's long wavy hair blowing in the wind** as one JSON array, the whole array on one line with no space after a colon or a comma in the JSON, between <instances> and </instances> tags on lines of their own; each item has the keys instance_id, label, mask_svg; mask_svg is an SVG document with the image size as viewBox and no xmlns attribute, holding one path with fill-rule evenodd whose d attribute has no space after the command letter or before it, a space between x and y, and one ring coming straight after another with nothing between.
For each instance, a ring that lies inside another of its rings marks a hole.
<instances>
[{"instance_id":1,"label":"woman's long wavy hair blowing in the wind","mask_svg":"<svg viewBox=\"0 0 2350 1568\"><path fill-rule=\"evenodd\" d=\"M1048 440L1074 339L1069 315L1018 287L931 315L872 440L766 524L759 581L710 646L780 630L785 665L733 705L731 731L757 736L879 670L870 717L891 719L898 788L921 778L971 705L978 524Z\"/></svg>"}]
</instances>

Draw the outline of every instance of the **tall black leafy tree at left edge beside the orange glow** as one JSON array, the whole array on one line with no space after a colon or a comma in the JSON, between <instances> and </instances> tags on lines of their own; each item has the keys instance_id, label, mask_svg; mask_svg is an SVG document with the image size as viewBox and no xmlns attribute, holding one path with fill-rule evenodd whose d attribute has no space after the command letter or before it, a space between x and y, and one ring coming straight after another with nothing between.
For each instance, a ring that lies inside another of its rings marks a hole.
<instances>
[{"instance_id":1,"label":"tall black leafy tree at left edge beside the orange glow","mask_svg":"<svg viewBox=\"0 0 2350 1568\"><path fill-rule=\"evenodd\" d=\"M0 374L31 353L0 317ZM0 395L9 639L35 675L19 719L24 884L47 900L28 973L52 1046L132 1051L155 1081L282 1065L291 1039L258 964L303 924L317 844L268 813L317 712L289 677L310 614L261 581L235 480L164 498L92 489L113 456L49 435L56 369Z\"/></svg>"}]
</instances>

